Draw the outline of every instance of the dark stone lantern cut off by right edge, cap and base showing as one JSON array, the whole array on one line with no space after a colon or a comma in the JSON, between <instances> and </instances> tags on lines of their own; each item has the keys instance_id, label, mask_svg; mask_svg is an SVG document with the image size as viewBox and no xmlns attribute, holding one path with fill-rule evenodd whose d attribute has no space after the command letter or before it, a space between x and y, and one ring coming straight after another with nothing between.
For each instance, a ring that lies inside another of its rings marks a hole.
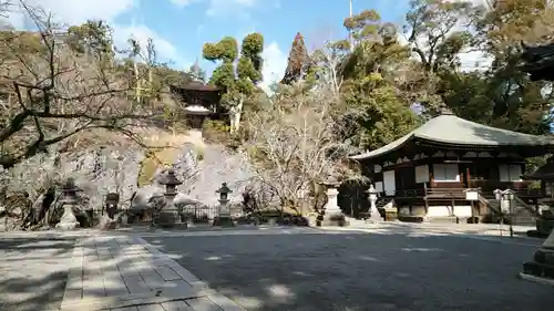
<instances>
[{"instance_id":1,"label":"dark stone lantern cut off by right edge, cap and base showing","mask_svg":"<svg viewBox=\"0 0 554 311\"><path fill-rule=\"evenodd\" d=\"M525 65L521 66L521 70L529 73L532 81L554 81L554 44L529 46L522 43L522 60ZM535 251L533 260L523 263L520 277L554 284L554 230Z\"/></svg>"}]
</instances>

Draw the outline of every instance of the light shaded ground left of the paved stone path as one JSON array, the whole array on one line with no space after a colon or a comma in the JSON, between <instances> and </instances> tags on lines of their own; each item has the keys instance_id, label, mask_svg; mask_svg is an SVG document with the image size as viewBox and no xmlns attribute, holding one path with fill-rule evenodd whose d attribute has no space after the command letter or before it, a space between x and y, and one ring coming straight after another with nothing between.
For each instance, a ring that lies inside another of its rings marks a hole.
<instances>
[{"instance_id":1,"label":"light shaded ground left of the paved stone path","mask_svg":"<svg viewBox=\"0 0 554 311\"><path fill-rule=\"evenodd\" d=\"M74 239L0 238L0 310L59 310Z\"/></svg>"}]
</instances>

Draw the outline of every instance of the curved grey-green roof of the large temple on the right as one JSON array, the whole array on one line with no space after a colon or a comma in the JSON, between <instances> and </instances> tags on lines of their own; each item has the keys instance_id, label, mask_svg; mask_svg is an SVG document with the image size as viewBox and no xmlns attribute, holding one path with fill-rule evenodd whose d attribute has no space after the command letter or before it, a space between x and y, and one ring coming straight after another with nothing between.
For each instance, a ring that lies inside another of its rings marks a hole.
<instances>
[{"instance_id":1,"label":"curved grey-green roof of the large temple on the right","mask_svg":"<svg viewBox=\"0 0 554 311\"><path fill-rule=\"evenodd\" d=\"M386 155L401 148L411 141L453 145L461 147L531 147L545 146L554 148L554 138L486 126L455 116L450 111L431 118L425 124L375 151L350 157L351 159L369 159Z\"/></svg>"}]
</instances>

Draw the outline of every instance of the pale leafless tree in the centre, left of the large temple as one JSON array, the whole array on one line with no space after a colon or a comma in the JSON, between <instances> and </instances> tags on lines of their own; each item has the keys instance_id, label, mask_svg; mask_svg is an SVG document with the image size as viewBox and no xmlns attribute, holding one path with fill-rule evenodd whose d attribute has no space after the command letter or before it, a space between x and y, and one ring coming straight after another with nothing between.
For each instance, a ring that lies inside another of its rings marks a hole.
<instances>
[{"instance_id":1,"label":"pale leafless tree in the centre, left of the large temple","mask_svg":"<svg viewBox=\"0 0 554 311\"><path fill-rule=\"evenodd\" d=\"M332 89L320 84L305 92L299 85L284 86L269 108L248 117L246 144L256 179L284 209L299 212L308 194L329 176L359 176L345 164L351 147L337 135L339 110Z\"/></svg>"}]
</instances>

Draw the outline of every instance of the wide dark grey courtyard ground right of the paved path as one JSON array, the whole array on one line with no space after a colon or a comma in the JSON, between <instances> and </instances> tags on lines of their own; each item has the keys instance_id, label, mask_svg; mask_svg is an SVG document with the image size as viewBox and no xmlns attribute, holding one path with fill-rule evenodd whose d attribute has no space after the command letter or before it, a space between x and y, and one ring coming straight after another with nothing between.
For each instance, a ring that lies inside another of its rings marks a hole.
<instances>
[{"instance_id":1,"label":"wide dark grey courtyard ground right of the paved path","mask_svg":"<svg viewBox=\"0 0 554 311\"><path fill-rule=\"evenodd\" d=\"M554 305L554 288L516 278L540 241L316 232L145 239L249 311Z\"/></svg>"}]
</instances>

